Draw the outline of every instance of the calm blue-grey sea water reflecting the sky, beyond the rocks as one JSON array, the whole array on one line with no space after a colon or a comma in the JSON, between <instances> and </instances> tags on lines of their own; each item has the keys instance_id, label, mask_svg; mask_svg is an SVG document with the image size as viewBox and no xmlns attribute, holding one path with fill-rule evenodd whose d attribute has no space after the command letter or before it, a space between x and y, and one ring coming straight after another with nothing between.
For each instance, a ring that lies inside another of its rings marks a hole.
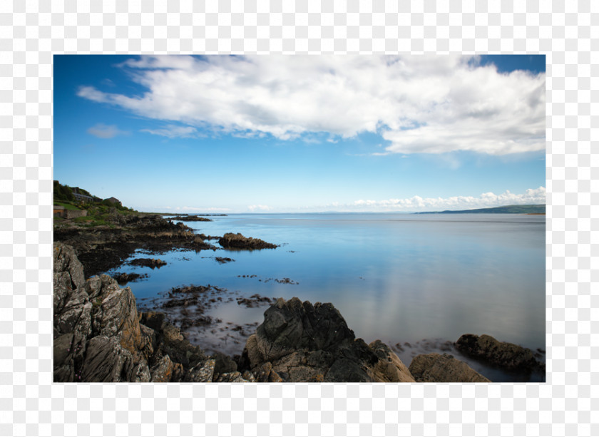
<instances>
[{"instance_id":1,"label":"calm blue-grey sea water reflecting the sky, beyond the rocks","mask_svg":"<svg viewBox=\"0 0 599 437\"><path fill-rule=\"evenodd\" d=\"M332 302L356 336L399 344L394 348L406 365L419 348L442 351L445 341L466 333L489 334L533 351L545 349L543 215L211 218L213 222L185 224L206 235L241 232L282 246L253 252L171 252L160 255L168 262L161 269L118 269L149 274L145 281L129 284L138 299L183 284L213 284L242 296ZM218 264L215 256L235 262ZM298 284L267 281L285 277ZM243 324L262 322L264 311L230 302L215 307L211 315ZM207 340L203 346L210 349L210 344ZM227 344L225 349L240 353L242 347ZM511 379L493 370L486 374L493 380Z\"/></svg>"}]
</instances>

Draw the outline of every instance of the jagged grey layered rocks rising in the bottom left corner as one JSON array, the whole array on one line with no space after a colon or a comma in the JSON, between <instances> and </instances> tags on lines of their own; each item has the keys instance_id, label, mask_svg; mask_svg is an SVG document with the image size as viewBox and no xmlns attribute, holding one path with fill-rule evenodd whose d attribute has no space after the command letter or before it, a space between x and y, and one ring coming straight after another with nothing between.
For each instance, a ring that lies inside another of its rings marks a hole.
<instances>
[{"instance_id":1,"label":"jagged grey layered rocks rising in the bottom left corner","mask_svg":"<svg viewBox=\"0 0 599 437\"><path fill-rule=\"evenodd\" d=\"M107 275L83 281L75 252L61 243L54 261L54 381L212 380L215 360L183 339L164 314L138 314L129 287ZM231 359L218 360L222 373L236 370Z\"/></svg>"}]
</instances>

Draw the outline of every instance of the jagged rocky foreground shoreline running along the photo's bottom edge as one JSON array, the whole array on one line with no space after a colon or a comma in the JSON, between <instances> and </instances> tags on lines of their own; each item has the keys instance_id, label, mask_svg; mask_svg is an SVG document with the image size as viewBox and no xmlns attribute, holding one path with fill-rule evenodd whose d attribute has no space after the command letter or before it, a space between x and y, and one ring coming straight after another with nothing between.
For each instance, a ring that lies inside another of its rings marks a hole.
<instances>
[{"instance_id":1,"label":"jagged rocky foreground shoreline running along the photo's bottom edge","mask_svg":"<svg viewBox=\"0 0 599 437\"><path fill-rule=\"evenodd\" d=\"M295 297L266 310L241 356L208 356L164 314L139 313L129 287L106 275L86 280L73 247L53 251L55 382L488 382L448 354L416 356L408 368L382 341L357 339L332 304ZM486 336L463 342L501 356ZM522 351L512 352L520 362Z\"/></svg>"}]
</instances>

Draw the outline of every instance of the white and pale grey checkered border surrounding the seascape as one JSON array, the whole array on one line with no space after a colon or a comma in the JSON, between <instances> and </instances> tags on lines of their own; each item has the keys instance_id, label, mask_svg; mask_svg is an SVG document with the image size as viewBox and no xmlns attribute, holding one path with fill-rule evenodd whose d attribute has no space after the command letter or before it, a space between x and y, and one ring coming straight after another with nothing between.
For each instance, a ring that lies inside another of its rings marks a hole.
<instances>
[{"instance_id":1,"label":"white and pale grey checkered border surrounding the seascape","mask_svg":"<svg viewBox=\"0 0 599 437\"><path fill-rule=\"evenodd\" d=\"M1 436L599 435L599 2L3 0L0 52ZM53 384L52 55L182 52L546 53L548 382Z\"/></svg>"}]
</instances>

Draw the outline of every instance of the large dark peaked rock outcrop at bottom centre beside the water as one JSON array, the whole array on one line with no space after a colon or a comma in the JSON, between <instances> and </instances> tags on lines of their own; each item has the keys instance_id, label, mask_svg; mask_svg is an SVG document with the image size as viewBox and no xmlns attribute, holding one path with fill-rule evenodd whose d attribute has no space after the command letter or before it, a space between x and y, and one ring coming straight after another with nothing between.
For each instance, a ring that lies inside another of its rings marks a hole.
<instances>
[{"instance_id":1,"label":"large dark peaked rock outcrop at bottom centre beside the water","mask_svg":"<svg viewBox=\"0 0 599 437\"><path fill-rule=\"evenodd\" d=\"M297 297L278 299L266 310L238 367L263 382L414 382L391 349L356 339L332 304Z\"/></svg>"}]
</instances>

